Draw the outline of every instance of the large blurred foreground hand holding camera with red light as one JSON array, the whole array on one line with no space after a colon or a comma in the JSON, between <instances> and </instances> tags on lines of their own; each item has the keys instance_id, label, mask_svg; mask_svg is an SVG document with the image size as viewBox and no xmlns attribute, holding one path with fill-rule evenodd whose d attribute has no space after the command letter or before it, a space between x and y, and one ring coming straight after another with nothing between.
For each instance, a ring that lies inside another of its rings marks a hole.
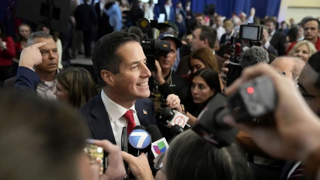
<instances>
[{"instance_id":1,"label":"large blurred foreground hand holding camera with red light","mask_svg":"<svg viewBox=\"0 0 320 180\"><path fill-rule=\"evenodd\" d=\"M280 76L269 65L260 64L245 68L242 75L228 87L227 96L235 93L242 83L260 75L268 75L275 84L278 104L273 117L276 125L265 127L236 123L232 116L224 121L249 133L256 145L274 157L305 160L308 154L320 147L320 121L291 81Z\"/></svg>"}]
</instances>

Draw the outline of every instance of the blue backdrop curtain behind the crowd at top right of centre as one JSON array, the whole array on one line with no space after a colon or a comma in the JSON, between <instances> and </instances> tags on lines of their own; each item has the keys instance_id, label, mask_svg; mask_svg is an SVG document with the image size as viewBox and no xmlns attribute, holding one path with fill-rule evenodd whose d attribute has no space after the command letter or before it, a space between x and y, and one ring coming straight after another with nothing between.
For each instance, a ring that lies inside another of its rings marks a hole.
<instances>
[{"instance_id":1,"label":"blue backdrop curtain behind the crowd at top right of centre","mask_svg":"<svg viewBox=\"0 0 320 180\"><path fill-rule=\"evenodd\" d=\"M178 1L185 6L187 0L172 0L175 7ZM191 7L193 12L204 12L205 4L215 4L216 12L227 18L231 17L232 12L239 14L240 11L250 14L251 7L256 9L256 16L264 18L268 16L278 16L281 0L192 0ZM164 4L164 0L158 1L159 5Z\"/></svg>"}]
</instances>

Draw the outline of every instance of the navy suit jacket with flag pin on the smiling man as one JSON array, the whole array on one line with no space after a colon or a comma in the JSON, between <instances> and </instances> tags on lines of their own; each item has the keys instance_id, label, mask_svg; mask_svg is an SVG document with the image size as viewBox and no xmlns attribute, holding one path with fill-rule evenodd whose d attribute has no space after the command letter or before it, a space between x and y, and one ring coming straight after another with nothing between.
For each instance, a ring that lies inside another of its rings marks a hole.
<instances>
[{"instance_id":1,"label":"navy suit jacket with flag pin on the smiling man","mask_svg":"<svg viewBox=\"0 0 320 180\"><path fill-rule=\"evenodd\" d=\"M137 99L134 105L141 126L147 127L150 124L156 124L155 106L151 99ZM101 99L101 93L80 107L79 110L86 118L94 139L107 139L113 144L116 144L108 112ZM147 114L144 114L143 110L147 112Z\"/></svg>"}]
</instances>

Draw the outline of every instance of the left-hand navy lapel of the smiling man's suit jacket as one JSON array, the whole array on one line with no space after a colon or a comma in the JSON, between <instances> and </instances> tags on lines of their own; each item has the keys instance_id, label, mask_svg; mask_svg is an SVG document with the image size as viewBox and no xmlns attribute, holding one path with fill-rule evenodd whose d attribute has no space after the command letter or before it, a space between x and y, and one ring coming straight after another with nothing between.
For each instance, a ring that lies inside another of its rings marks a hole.
<instances>
[{"instance_id":1,"label":"left-hand navy lapel of the smiling man's suit jacket","mask_svg":"<svg viewBox=\"0 0 320 180\"><path fill-rule=\"evenodd\" d=\"M88 124L95 138L100 140L108 139L113 144L116 144L108 112L101 99L101 93L95 97L95 104L91 113L96 119L89 121Z\"/></svg>"}]
</instances>

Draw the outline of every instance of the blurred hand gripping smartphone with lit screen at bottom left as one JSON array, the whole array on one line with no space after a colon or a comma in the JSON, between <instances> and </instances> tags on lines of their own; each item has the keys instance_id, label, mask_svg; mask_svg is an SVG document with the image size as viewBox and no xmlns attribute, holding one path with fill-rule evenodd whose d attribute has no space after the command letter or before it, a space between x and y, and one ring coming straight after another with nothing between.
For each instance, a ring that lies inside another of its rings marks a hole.
<instances>
[{"instance_id":1,"label":"blurred hand gripping smartphone with lit screen at bottom left","mask_svg":"<svg viewBox=\"0 0 320 180\"><path fill-rule=\"evenodd\" d=\"M103 147L108 153L108 168L104 174L100 175L99 180L123 180L126 175L126 171L120 147L112 144L108 140L93 140L93 144Z\"/></svg>"}]
</instances>

